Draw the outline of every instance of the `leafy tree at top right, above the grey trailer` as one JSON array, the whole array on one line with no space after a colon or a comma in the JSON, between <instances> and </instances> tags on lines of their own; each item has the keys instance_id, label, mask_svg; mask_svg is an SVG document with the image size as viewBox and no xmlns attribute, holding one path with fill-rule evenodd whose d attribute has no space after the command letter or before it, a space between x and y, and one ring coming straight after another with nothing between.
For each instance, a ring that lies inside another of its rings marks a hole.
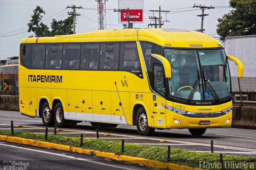
<instances>
[{"instance_id":1,"label":"leafy tree at top right, above the grey trailer","mask_svg":"<svg viewBox=\"0 0 256 170\"><path fill-rule=\"evenodd\" d=\"M256 34L256 0L230 0L234 8L218 18L217 34L224 41L227 36L246 36Z\"/></svg>"}]
</instances>

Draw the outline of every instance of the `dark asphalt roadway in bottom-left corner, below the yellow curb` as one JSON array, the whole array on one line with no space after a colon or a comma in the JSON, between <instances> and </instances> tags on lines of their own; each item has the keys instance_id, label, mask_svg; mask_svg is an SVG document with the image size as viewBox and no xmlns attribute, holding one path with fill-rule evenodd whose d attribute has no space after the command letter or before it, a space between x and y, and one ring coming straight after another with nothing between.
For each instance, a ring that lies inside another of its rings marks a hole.
<instances>
[{"instance_id":1,"label":"dark asphalt roadway in bottom-left corner, below the yellow curb","mask_svg":"<svg viewBox=\"0 0 256 170\"><path fill-rule=\"evenodd\" d=\"M0 170L2 169L62 169L62 170L147 170L135 164L115 160L38 148L0 141Z\"/></svg>"}]
</instances>

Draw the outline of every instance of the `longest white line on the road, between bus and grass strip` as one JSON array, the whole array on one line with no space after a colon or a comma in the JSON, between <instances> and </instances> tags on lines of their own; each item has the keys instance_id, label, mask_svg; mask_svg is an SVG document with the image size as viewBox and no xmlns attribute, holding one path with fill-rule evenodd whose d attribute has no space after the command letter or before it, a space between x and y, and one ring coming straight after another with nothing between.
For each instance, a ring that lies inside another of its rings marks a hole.
<instances>
[{"instance_id":1,"label":"longest white line on the road, between bus and grass strip","mask_svg":"<svg viewBox=\"0 0 256 170\"><path fill-rule=\"evenodd\" d=\"M7 125L7 124L2 124ZM23 127L32 127L32 126L23 126ZM42 128L42 127L35 127L35 128ZM54 129L54 128L48 128L48 129ZM82 133L93 133L92 131L82 131L82 130L67 130L66 131L72 131L72 132L82 132ZM99 134L105 134L105 133L99 133ZM124 137L131 137L136 139L146 139L146 140L163 140L159 138L147 138L142 136L132 136L132 135L124 135L124 134L116 134L112 133L113 136L124 136ZM164 139L165 140L165 139ZM192 145L199 145L199 146L211 146L210 144L203 144L203 143L196 143L196 142L185 142L185 141L178 141L178 140L167 140L167 142L173 142L173 143L182 143L182 144L192 144ZM232 147L232 146L222 146L222 145L214 145L215 148L224 148L224 149L232 149L232 150L242 150L242 151L248 151L248 152L256 152L256 149L248 149L248 148L238 148L238 147Z\"/></svg>"}]
</instances>

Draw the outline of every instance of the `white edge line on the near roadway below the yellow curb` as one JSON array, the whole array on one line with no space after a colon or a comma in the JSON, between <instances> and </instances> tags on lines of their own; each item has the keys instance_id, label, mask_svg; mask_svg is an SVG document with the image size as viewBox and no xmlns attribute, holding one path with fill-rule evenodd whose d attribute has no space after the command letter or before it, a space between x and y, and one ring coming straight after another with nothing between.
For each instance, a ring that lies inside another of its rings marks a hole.
<instances>
[{"instance_id":1,"label":"white edge line on the near roadway below the yellow curb","mask_svg":"<svg viewBox=\"0 0 256 170\"><path fill-rule=\"evenodd\" d=\"M74 156L68 156L68 155L63 155L63 154L46 152L46 151L42 151L42 150L23 148L23 147L19 147L19 146L8 145L8 144L1 144L1 143L0 143L0 145L2 145L2 146L10 146L10 147L13 147L13 148L19 148L19 149L24 149L24 150L31 150L31 151L34 151L34 152L41 152L41 153L45 153L45 154L52 154L52 155L55 155L55 156L61 156L61 157L65 157L65 158L75 159L75 160L82 160L82 161L85 161L85 162L91 162L93 164L100 164L100 165L104 165L104 166L111 166L111 167L114 167L114 168L120 168L120 169L126 169L126 170L134 170L134 169L126 168L126 167L122 167L122 166L109 165L109 164L104 164L104 163L96 162L96 161L93 161L93 160L88 160L88 159L83 159L83 158L76 158Z\"/></svg>"}]
</instances>

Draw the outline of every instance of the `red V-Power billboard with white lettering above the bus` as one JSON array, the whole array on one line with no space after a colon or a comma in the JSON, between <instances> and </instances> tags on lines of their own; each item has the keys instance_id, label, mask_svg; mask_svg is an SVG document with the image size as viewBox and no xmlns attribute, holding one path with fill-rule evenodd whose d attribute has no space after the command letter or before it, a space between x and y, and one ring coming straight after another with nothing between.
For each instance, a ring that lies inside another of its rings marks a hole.
<instances>
[{"instance_id":1,"label":"red V-Power billboard with white lettering above the bus","mask_svg":"<svg viewBox=\"0 0 256 170\"><path fill-rule=\"evenodd\" d=\"M121 10L121 22L128 22L127 20L127 9ZM132 20L130 22L143 22L143 10L130 10L129 16Z\"/></svg>"}]
</instances>

